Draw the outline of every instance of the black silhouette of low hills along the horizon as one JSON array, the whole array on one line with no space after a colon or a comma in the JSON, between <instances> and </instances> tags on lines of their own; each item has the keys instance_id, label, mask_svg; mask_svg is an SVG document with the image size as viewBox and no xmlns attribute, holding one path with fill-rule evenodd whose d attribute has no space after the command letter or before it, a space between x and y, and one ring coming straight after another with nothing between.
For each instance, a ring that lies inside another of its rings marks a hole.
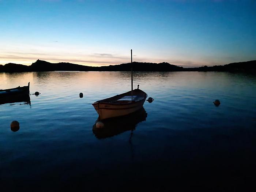
<instances>
[{"instance_id":1,"label":"black silhouette of low hills along the horizon","mask_svg":"<svg viewBox=\"0 0 256 192\"><path fill-rule=\"evenodd\" d=\"M215 65L212 67L183 68L169 63L141 63L133 62L133 71L249 71L256 72L256 60L230 63L226 65ZM131 71L131 63L120 65L109 65L102 67L90 67L73 63L49 63L37 60L30 66L7 63L0 65L0 72L29 72L29 71Z\"/></svg>"}]
</instances>

